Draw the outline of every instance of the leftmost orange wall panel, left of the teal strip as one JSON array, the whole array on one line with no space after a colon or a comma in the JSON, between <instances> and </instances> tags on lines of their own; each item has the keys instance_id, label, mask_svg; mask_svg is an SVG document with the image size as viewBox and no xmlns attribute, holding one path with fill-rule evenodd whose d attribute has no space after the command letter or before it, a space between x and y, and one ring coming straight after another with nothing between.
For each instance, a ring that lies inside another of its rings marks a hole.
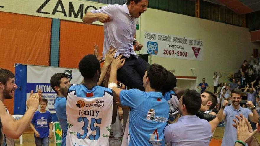
<instances>
[{"instance_id":1,"label":"leftmost orange wall panel, left of the teal strip","mask_svg":"<svg viewBox=\"0 0 260 146\"><path fill-rule=\"evenodd\" d=\"M49 65L50 18L0 12L0 68L14 73L15 63ZM4 101L13 114L14 100Z\"/></svg>"}]
</instances>

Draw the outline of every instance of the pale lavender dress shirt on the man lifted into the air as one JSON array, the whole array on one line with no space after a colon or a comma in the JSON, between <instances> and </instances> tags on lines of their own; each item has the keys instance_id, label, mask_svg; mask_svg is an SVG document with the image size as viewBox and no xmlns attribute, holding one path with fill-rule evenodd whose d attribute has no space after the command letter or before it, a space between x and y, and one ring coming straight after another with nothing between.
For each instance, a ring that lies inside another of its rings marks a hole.
<instances>
[{"instance_id":1,"label":"pale lavender dress shirt on the man lifted into the air","mask_svg":"<svg viewBox=\"0 0 260 146\"><path fill-rule=\"evenodd\" d=\"M104 23L103 57L108 53L111 46L118 49L115 57L120 54L126 58L129 58L131 54L137 57L133 47L134 35L136 33L136 18L131 17L126 4L110 4L90 12L104 13L111 18L111 22Z\"/></svg>"}]
</instances>

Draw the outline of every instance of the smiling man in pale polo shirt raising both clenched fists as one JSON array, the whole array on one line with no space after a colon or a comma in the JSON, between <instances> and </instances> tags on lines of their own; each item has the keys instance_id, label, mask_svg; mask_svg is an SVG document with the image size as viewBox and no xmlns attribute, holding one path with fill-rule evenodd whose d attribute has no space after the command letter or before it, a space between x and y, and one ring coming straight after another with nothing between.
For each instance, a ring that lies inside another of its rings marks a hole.
<instances>
[{"instance_id":1,"label":"smiling man in pale polo shirt raising both clenched fists","mask_svg":"<svg viewBox=\"0 0 260 146\"><path fill-rule=\"evenodd\" d=\"M228 101L225 100L222 104L219 112L217 113L217 117L219 122L224 120L225 122L225 132L222 140L221 146L230 146L235 145L235 141L237 140L237 130L232 126L233 119L235 119L235 115L243 114L245 118L248 118L252 122L258 121L258 113L256 111L256 107L253 105L252 101L247 101L248 108L243 108L240 106L240 102L242 100L241 91L239 89L233 89L231 91L231 101L232 104L228 105Z\"/></svg>"}]
</instances>

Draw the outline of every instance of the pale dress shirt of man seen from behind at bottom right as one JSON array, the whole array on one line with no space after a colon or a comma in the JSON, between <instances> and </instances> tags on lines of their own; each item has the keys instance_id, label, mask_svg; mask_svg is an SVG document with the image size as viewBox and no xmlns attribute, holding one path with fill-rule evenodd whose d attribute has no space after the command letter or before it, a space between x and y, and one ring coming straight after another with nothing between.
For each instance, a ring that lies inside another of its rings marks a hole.
<instances>
[{"instance_id":1,"label":"pale dress shirt of man seen from behind at bottom right","mask_svg":"<svg viewBox=\"0 0 260 146\"><path fill-rule=\"evenodd\" d=\"M196 115L182 116L164 129L165 143L172 146L208 146L212 137L209 122Z\"/></svg>"}]
</instances>

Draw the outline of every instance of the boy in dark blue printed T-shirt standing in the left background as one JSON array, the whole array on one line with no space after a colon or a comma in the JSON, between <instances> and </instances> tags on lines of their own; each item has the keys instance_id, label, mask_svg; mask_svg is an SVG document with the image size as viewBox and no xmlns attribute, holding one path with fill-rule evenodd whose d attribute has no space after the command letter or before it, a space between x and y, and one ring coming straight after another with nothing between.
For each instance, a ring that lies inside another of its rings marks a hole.
<instances>
[{"instance_id":1,"label":"boy in dark blue printed T-shirt standing in the left background","mask_svg":"<svg viewBox=\"0 0 260 146\"><path fill-rule=\"evenodd\" d=\"M40 103L40 110L34 113L30 124L34 131L36 146L49 146L49 138L53 137L51 113L45 109L47 104L48 100L43 98Z\"/></svg>"}]
</instances>

